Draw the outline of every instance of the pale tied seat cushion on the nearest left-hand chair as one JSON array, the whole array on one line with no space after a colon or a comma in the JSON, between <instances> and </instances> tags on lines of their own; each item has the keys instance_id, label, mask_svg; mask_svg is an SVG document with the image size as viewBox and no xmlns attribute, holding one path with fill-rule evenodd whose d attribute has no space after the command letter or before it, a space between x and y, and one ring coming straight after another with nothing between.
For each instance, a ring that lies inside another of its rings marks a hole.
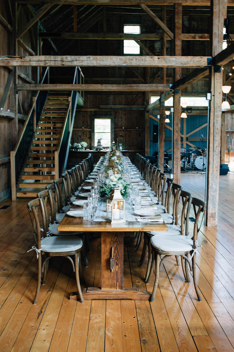
<instances>
[{"instance_id":1,"label":"pale tied seat cushion on the nearest left-hand chair","mask_svg":"<svg viewBox=\"0 0 234 352\"><path fill-rule=\"evenodd\" d=\"M44 252L72 252L82 247L82 239L76 236L53 236L41 240Z\"/></svg>"}]
</instances>

